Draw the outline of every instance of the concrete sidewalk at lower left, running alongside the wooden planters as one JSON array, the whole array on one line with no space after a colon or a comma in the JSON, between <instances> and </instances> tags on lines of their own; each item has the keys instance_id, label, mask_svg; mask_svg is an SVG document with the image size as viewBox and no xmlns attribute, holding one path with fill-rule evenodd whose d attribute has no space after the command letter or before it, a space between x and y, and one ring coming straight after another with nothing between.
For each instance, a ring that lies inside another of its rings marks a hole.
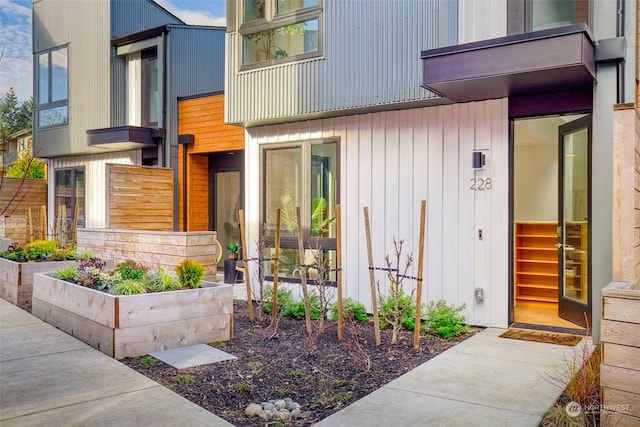
<instances>
[{"instance_id":1,"label":"concrete sidewalk at lower left, running alongside the wooden planters","mask_svg":"<svg viewBox=\"0 0 640 427\"><path fill-rule=\"evenodd\" d=\"M0 425L231 426L3 299Z\"/></svg>"}]
</instances>

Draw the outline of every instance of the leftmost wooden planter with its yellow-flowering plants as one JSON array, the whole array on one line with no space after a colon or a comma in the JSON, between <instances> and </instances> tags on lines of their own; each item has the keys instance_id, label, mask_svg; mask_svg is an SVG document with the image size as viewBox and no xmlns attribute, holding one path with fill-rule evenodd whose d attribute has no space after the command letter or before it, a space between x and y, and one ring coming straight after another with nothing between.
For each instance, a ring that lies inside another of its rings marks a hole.
<instances>
[{"instance_id":1,"label":"leftmost wooden planter with its yellow-flowering plants","mask_svg":"<svg viewBox=\"0 0 640 427\"><path fill-rule=\"evenodd\" d=\"M11 244L0 252L0 297L19 307L31 307L33 275L75 263L73 246L61 247L54 240Z\"/></svg>"}]
</instances>

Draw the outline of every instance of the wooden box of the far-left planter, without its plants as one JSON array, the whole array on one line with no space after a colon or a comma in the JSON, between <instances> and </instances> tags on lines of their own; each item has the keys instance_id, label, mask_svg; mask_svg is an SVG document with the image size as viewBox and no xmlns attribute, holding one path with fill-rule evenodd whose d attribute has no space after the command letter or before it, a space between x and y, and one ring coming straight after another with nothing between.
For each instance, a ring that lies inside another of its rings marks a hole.
<instances>
[{"instance_id":1,"label":"wooden box of the far-left planter, without its plants","mask_svg":"<svg viewBox=\"0 0 640 427\"><path fill-rule=\"evenodd\" d=\"M75 261L15 262L0 258L0 297L22 308L31 308L33 275L49 273Z\"/></svg>"}]
</instances>

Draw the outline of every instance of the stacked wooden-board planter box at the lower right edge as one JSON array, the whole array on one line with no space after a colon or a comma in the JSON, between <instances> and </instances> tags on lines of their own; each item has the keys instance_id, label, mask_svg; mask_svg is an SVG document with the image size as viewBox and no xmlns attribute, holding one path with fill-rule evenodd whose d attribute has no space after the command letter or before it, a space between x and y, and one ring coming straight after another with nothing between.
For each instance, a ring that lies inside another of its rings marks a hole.
<instances>
[{"instance_id":1,"label":"stacked wooden-board planter box at the lower right edge","mask_svg":"<svg viewBox=\"0 0 640 427\"><path fill-rule=\"evenodd\" d=\"M613 282L602 290L602 426L640 425L640 290Z\"/></svg>"}]
</instances>

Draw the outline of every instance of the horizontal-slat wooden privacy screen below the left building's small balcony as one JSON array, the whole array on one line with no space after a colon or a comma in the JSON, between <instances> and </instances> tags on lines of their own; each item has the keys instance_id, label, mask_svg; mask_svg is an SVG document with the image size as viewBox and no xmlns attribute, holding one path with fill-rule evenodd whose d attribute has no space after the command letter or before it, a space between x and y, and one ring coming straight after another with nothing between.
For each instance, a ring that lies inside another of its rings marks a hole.
<instances>
[{"instance_id":1,"label":"horizontal-slat wooden privacy screen below the left building's small balcony","mask_svg":"<svg viewBox=\"0 0 640 427\"><path fill-rule=\"evenodd\" d=\"M107 165L106 227L120 230L173 230L171 169Z\"/></svg>"}]
</instances>

